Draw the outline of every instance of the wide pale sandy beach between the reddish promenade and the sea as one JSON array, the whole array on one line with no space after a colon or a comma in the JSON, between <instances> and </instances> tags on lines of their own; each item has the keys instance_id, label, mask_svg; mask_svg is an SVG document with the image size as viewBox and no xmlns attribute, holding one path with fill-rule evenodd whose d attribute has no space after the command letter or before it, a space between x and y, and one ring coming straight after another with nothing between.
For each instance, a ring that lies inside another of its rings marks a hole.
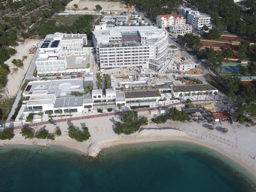
<instances>
[{"instance_id":1,"label":"wide pale sandy beach between the reddish promenade and the sea","mask_svg":"<svg viewBox=\"0 0 256 192\"><path fill-rule=\"evenodd\" d=\"M139 116L147 116L152 118L148 112L139 112ZM85 119L77 121L67 121L58 123L62 131L62 135L56 137L55 140L47 139L24 139L15 131L15 136L12 140L0 141L1 144L13 145L61 145L71 149L79 150L89 156L96 157L104 148L120 145L133 144L142 142L155 141L183 141L202 145L211 150L217 151L224 156L235 161L248 170L256 177L255 155L256 149L253 147L256 144L254 139L256 130L254 127L246 127L238 123L231 125L228 122L223 122L222 125L217 123L213 125L214 130L207 129L208 123L183 123L168 120L164 124L148 123L142 126L141 129L131 135L117 135L114 133L114 124L119 121L119 116L100 117L95 119ZM91 137L85 142L77 142L68 136L68 126L74 125L76 128L87 126ZM228 133L218 131L220 127L228 128ZM56 132L56 127L52 124L34 128L36 131L47 129L50 133Z\"/></svg>"}]
</instances>

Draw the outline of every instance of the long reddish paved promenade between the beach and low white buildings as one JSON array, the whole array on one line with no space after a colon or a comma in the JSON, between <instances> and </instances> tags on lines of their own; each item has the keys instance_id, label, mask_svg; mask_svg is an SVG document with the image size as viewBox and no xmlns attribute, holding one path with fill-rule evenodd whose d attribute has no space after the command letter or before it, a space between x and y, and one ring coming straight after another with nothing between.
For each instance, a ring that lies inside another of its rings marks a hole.
<instances>
[{"instance_id":1,"label":"long reddish paved promenade between the beach and low white buildings","mask_svg":"<svg viewBox=\"0 0 256 192\"><path fill-rule=\"evenodd\" d=\"M220 102L219 99L204 99L204 100L194 100L192 101L192 103L196 103L196 102L205 102L205 101L217 101ZM185 104L186 102L179 102L179 103L172 103L172 104L168 104L168 105L162 105L159 107L151 107L151 108L143 108L143 109L136 109L137 112L142 112L142 111L150 111L153 109L159 109L162 107L176 107L177 105L182 105ZM57 119L55 120L56 123L60 123L60 122L66 122L66 121L75 121L75 120L82 120L82 119L91 119L91 118L98 118L98 117L106 117L106 116L113 116L113 115L120 115L121 113L126 114L131 112L132 110L127 110L127 111L118 111L118 112L111 112L111 113L101 113L101 114L96 114L96 115L88 115L88 116L80 116L80 117L70 117L70 118L63 118L63 119ZM35 127L38 125L46 125L46 124L50 124L48 121L43 121L43 122L38 122L38 123L31 123L31 124L25 124L25 125L20 125L20 126L15 126L15 127L10 127L10 129L12 130L18 130L21 129L22 127Z\"/></svg>"}]
</instances>

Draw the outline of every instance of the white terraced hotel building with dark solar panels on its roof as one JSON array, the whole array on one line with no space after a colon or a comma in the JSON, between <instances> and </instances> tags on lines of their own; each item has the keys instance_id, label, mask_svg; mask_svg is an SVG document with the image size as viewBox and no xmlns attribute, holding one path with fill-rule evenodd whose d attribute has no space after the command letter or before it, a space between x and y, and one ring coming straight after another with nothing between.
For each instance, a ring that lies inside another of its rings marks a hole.
<instances>
[{"instance_id":1,"label":"white terraced hotel building with dark solar panels on its roof","mask_svg":"<svg viewBox=\"0 0 256 192\"><path fill-rule=\"evenodd\" d=\"M55 33L45 37L39 45L36 59L37 73L89 72L93 66L93 47L87 45L86 34Z\"/></svg>"}]
</instances>

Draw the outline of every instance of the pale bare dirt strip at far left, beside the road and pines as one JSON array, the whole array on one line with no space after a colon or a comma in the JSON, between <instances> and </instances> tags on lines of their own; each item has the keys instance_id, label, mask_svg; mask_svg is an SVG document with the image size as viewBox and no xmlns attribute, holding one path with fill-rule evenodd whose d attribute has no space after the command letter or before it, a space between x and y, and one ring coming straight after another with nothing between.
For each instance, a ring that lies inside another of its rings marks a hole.
<instances>
[{"instance_id":1,"label":"pale bare dirt strip at far left, beside the road and pines","mask_svg":"<svg viewBox=\"0 0 256 192\"><path fill-rule=\"evenodd\" d=\"M8 59L7 61L5 61L5 64L7 64L10 68L10 73L8 74L7 78L8 78L8 82L6 85L6 91L5 94L13 97L16 96L16 94L19 91L20 88L20 84L28 70L28 67L30 65L30 62L34 56L34 54L29 54L29 49L31 47L34 47L33 44L35 43L39 43L40 40L38 39L26 39L24 42L24 45L19 44L18 46L15 47L17 53L12 56L10 59ZM12 60L13 59L21 59L23 56L27 56L28 58L24 60L23 64L24 64L24 69L23 68L18 68L17 73L13 72L13 68L17 68L14 64L12 64Z\"/></svg>"}]
</instances>

